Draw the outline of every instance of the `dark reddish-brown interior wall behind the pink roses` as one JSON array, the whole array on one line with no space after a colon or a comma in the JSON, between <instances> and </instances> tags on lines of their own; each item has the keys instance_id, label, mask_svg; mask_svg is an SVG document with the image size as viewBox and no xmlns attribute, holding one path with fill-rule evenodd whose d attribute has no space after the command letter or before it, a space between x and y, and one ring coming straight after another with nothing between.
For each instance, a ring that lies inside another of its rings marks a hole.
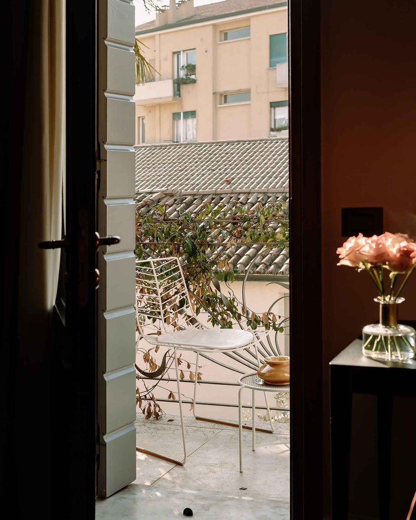
<instances>
[{"instance_id":1,"label":"dark reddish-brown interior wall behind the pink roses","mask_svg":"<svg viewBox=\"0 0 416 520\"><path fill-rule=\"evenodd\" d=\"M345 241L341 235L341 209L382 206L385 231L409 233L416 239L415 21L413 0L321 0L322 320L327 469L328 363L360 334L365 324L378 319L378 308L372 301L376 294L368 275L336 266L336 248ZM401 304L399 318L415 320L416 274L402 295L406 302ZM398 412L399 408L394 413ZM359 433L355 432L355 438L360 438ZM365 462L366 454L360 456ZM324 473L328 475L329 489L329 471ZM324 495L328 511L328 493Z\"/></svg>"}]
</instances>

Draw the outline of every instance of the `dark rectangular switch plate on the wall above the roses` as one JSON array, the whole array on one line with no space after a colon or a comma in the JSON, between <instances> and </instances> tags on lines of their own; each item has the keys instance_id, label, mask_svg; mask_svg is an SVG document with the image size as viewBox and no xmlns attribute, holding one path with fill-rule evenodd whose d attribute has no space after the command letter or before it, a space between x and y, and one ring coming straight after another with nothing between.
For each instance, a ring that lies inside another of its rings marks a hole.
<instances>
[{"instance_id":1,"label":"dark rectangular switch plate on the wall above the roses","mask_svg":"<svg viewBox=\"0 0 416 520\"><path fill-rule=\"evenodd\" d=\"M362 233L365 237L382 235L382 207L343 207L341 209L341 236L356 237Z\"/></svg>"}]
</instances>

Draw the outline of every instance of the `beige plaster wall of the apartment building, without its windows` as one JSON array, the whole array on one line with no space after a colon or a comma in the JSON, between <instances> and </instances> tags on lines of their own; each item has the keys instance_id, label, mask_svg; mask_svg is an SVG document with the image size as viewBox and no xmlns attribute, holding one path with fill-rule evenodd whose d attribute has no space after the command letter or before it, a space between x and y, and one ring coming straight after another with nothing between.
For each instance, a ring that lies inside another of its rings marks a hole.
<instances>
[{"instance_id":1,"label":"beige plaster wall of the apartment building, without its windows","mask_svg":"<svg viewBox=\"0 0 416 520\"><path fill-rule=\"evenodd\" d=\"M220 32L247 25L250 38L220 42ZM136 120L146 117L146 143L171 141L172 113L190 110L197 112L198 141L269 137L270 102L288 99L288 89L277 86L276 69L269 68L269 35L287 31L288 10L280 8L237 20L139 35L149 47L144 48L146 59L154 59L160 72L155 81L172 79L174 51L197 50L197 83L181 85L180 98L164 103L154 99L146 106L136 101ZM220 106L222 93L240 89L251 90L251 102Z\"/></svg>"}]
</instances>

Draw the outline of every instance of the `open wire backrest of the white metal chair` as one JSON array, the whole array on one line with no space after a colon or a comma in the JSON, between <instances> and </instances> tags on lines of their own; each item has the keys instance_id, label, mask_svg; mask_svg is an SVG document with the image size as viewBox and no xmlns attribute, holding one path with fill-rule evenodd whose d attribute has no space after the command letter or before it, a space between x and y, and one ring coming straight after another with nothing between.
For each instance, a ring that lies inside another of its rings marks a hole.
<instances>
[{"instance_id":1,"label":"open wire backrest of the white metal chair","mask_svg":"<svg viewBox=\"0 0 416 520\"><path fill-rule=\"evenodd\" d=\"M199 326L179 258L136 262L136 314L141 335L149 324L161 332Z\"/></svg>"}]
</instances>

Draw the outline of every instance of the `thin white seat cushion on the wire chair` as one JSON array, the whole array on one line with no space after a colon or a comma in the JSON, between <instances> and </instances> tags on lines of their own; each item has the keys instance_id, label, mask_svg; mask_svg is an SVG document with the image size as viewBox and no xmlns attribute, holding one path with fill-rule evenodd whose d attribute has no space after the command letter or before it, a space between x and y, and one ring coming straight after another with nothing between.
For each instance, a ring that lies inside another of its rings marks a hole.
<instances>
[{"instance_id":1,"label":"thin white seat cushion on the wire chair","mask_svg":"<svg viewBox=\"0 0 416 520\"><path fill-rule=\"evenodd\" d=\"M252 332L237 329L187 329L153 336L152 343L189 350L234 350L254 340Z\"/></svg>"}]
</instances>

